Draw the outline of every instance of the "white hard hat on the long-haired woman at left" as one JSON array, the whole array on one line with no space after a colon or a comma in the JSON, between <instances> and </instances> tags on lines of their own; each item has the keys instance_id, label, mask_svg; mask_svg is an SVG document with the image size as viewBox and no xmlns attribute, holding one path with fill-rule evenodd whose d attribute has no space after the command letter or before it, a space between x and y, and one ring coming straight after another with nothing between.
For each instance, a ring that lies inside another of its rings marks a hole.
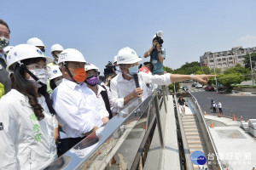
<instances>
[{"instance_id":1,"label":"white hard hat on the long-haired woman at left","mask_svg":"<svg viewBox=\"0 0 256 170\"><path fill-rule=\"evenodd\" d=\"M23 59L32 59L42 57L46 59L46 64L53 62L53 59L44 56L43 52L30 44L20 44L15 46L9 51L6 57L7 67L6 70L9 72L14 72L15 65L20 63Z\"/></svg>"}]
</instances>

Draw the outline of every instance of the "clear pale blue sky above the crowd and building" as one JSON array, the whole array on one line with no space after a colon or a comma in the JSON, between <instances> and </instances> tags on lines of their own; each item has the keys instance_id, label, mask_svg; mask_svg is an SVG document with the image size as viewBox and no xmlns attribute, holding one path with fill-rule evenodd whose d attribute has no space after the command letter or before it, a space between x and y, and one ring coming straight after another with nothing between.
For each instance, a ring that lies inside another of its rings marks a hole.
<instances>
[{"instance_id":1,"label":"clear pale blue sky above the crowd and building","mask_svg":"<svg viewBox=\"0 0 256 170\"><path fill-rule=\"evenodd\" d=\"M38 37L48 56L55 43L77 48L101 72L120 48L143 57L160 30L164 65L172 69L199 61L207 51L256 47L255 0L8 0L1 7L10 45Z\"/></svg>"}]
</instances>

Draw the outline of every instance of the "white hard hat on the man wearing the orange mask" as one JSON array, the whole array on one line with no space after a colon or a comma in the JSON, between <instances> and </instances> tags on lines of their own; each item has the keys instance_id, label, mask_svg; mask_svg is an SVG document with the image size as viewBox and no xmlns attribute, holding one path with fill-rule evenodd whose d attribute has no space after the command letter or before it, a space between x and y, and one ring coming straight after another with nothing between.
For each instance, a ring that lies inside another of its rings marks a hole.
<instances>
[{"instance_id":1,"label":"white hard hat on the man wearing the orange mask","mask_svg":"<svg viewBox=\"0 0 256 170\"><path fill-rule=\"evenodd\" d=\"M64 49L59 55L58 64L65 61L76 61L86 63L84 55L75 48Z\"/></svg>"}]
</instances>

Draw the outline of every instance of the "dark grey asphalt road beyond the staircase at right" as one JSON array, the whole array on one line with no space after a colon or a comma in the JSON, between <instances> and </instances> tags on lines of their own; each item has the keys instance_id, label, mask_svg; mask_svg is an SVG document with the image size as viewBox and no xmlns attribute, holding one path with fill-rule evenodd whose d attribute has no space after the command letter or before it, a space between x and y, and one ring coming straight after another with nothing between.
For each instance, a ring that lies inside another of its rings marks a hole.
<instances>
[{"instance_id":1,"label":"dark grey asphalt road beyond the staircase at right","mask_svg":"<svg viewBox=\"0 0 256 170\"><path fill-rule=\"evenodd\" d=\"M217 104L218 101L222 103L223 115L236 116L236 118L256 119L256 96L231 96L229 94L217 94L216 92L207 92L202 88L191 88L189 91L198 100L202 111L212 113L211 100L213 99ZM218 111L218 109L217 109ZM218 115L218 113L216 113Z\"/></svg>"}]
</instances>

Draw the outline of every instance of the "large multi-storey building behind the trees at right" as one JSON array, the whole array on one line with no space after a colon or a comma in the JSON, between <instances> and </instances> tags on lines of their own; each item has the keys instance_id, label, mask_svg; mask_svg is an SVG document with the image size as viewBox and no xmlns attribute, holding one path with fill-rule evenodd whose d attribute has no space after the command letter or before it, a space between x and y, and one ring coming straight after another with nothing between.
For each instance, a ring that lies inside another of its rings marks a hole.
<instances>
[{"instance_id":1,"label":"large multi-storey building behind the trees at right","mask_svg":"<svg viewBox=\"0 0 256 170\"><path fill-rule=\"evenodd\" d=\"M256 53L256 47L242 48L239 46L231 50L214 53L208 51L200 57L200 65L207 66L210 69L220 68L222 71L236 64L244 66L244 57L248 52Z\"/></svg>"}]
</instances>

